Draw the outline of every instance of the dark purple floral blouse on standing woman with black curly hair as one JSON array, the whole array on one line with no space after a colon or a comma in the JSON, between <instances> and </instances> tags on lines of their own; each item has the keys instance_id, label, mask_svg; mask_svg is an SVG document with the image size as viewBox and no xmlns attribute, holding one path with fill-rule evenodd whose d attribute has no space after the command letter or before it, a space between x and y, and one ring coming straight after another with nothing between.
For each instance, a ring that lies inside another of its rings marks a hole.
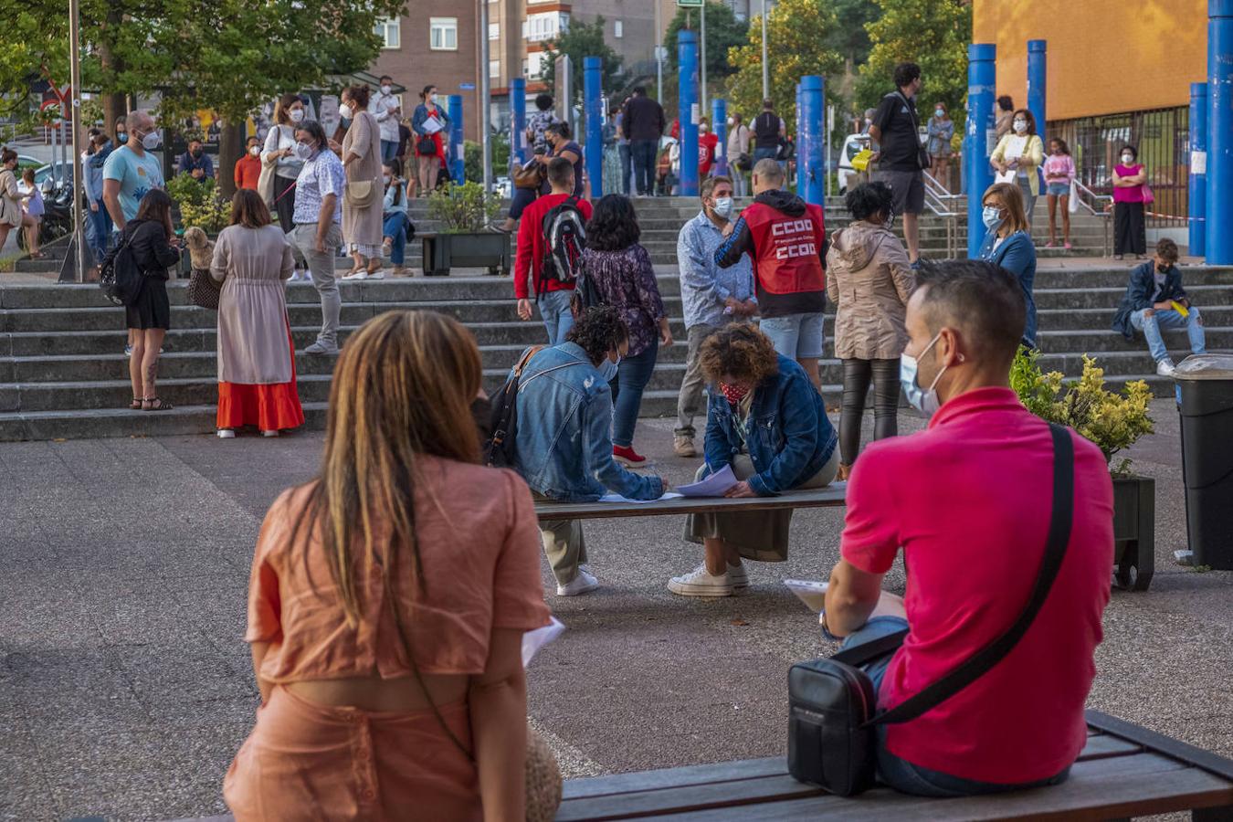
<instances>
[{"instance_id":1,"label":"dark purple floral blouse on standing woman with black curly hair","mask_svg":"<svg viewBox=\"0 0 1233 822\"><path fill-rule=\"evenodd\" d=\"M614 306L629 325L629 356L637 356L651 348L658 336L657 323L663 319L663 299L655 282L655 267L646 249L634 243L620 251L582 253L583 270L592 279L599 296Z\"/></svg>"}]
</instances>

